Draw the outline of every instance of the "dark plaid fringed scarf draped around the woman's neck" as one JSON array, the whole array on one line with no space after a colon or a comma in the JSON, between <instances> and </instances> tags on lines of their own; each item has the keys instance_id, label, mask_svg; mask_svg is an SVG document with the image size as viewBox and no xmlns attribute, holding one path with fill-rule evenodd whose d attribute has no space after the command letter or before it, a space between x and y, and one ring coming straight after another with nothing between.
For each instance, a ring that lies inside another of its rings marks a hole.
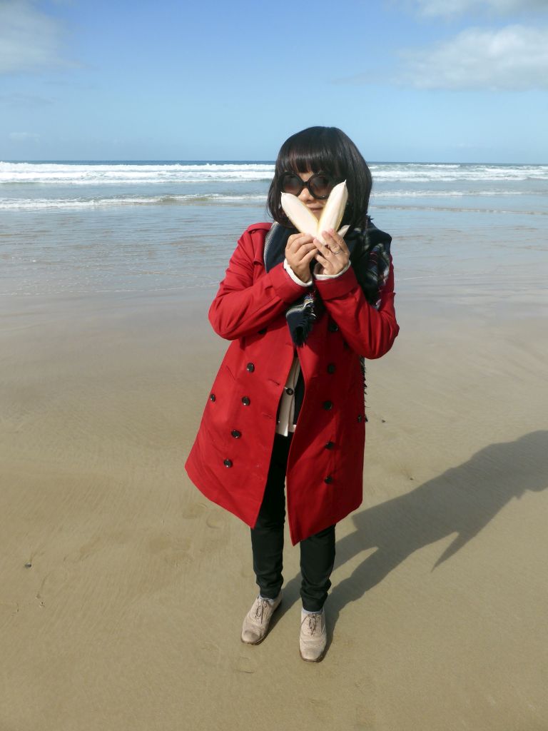
<instances>
[{"instance_id":1,"label":"dark plaid fringed scarf draped around the woman's neck","mask_svg":"<svg viewBox=\"0 0 548 731\"><path fill-rule=\"evenodd\" d=\"M265 238L265 269L270 271L285 259L289 236L297 229L273 223ZM371 223L368 217L365 229L354 229L344 237L350 251L350 264L362 287L365 299L375 308L380 304L381 289L386 284L390 266L392 237ZM316 264L311 262L311 271ZM324 305L316 287L306 289L302 297L286 310L287 325L295 345L302 346L311 333L316 319L321 317Z\"/></svg>"}]
</instances>

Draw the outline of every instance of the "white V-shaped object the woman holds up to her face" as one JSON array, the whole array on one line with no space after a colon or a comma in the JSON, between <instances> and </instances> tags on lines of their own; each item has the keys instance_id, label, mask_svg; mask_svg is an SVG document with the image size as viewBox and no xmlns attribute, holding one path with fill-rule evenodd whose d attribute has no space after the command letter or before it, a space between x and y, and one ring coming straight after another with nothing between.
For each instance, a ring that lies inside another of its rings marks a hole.
<instances>
[{"instance_id":1,"label":"white V-shaped object the woman holds up to her face","mask_svg":"<svg viewBox=\"0 0 548 731\"><path fill-rule=\"evenodd\" d=\"M343 220L347 200L349 200L349 192L346 189L346 181L343 181L330 192L319 220L302 200L291 193L281 194L281 207L297 231L308 233L325 244L326 242L321 238L322 231L334 229L340 236L344 236L349 230L348 226L343 226L338 230L340 221Z\"/></svg>"}]
</instances>

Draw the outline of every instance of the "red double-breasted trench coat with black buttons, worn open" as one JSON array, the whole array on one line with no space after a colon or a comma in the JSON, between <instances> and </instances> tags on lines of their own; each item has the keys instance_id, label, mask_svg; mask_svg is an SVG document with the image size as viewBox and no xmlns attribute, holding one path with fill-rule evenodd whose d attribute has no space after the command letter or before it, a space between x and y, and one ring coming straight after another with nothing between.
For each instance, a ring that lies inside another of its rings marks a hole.
<instances>
[{"instance_id":1,"label":"red double-breasted trench coat with black buttons, worn open","mask_svg":"<svg viewBox=\"0 0 548 731\"><path fill-rule=\"evenodd\" d=\"M210 307L213 329L232 343L186 461L197 488L251 527L294 357L285 311L303 293L283 263L265 271L269 229L270 224L254 224L243 233ZM359 356L381 357L399 330L392 263L378 310L365 299L352 268L337 279L316 281L316 287L326 310L297 349L305 395L286 473L293 545L362 502L365 406Z\"/></svg>"}]
</instances>

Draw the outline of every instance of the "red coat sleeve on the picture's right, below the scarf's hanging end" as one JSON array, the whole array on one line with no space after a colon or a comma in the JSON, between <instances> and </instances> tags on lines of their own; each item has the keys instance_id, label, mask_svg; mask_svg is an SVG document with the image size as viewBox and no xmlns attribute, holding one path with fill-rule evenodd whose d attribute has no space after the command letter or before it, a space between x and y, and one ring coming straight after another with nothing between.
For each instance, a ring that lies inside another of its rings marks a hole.
<instances>
[{"instance_id":1,"label":"red coat sleeve on the picture's right, below the scarf's hanging end","mask_svg":"<svg viewBox=\"0 0 548 731\"><path fill-rule=\"evenodd\" d=\"M365 299L352 268L337 279L316 281L316 287L351 349L366 358L380 358L389 351L400 330L394 310L392 257L378 310Z\"/></svg>"}]
</instances>

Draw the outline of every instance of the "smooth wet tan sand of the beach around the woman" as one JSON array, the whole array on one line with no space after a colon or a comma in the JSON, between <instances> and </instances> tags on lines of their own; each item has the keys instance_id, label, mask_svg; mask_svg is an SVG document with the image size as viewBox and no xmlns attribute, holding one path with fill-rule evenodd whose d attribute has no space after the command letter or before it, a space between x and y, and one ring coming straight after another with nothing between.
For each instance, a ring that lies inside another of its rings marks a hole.
<instances>
[{"instance_id":1,"label":"smooth wet tan sand of the beach around the woman","mask_svg":"<svg viewBox=\"0 0 548 731\"><path fill-rule=\"evenodd\" d=\"M273 629L240 643L248 529L183 469L214 289L2 298L1 731L546 731L545 320L402 290L317 665L289 541Z\"/></svg>"}]
</instances>

